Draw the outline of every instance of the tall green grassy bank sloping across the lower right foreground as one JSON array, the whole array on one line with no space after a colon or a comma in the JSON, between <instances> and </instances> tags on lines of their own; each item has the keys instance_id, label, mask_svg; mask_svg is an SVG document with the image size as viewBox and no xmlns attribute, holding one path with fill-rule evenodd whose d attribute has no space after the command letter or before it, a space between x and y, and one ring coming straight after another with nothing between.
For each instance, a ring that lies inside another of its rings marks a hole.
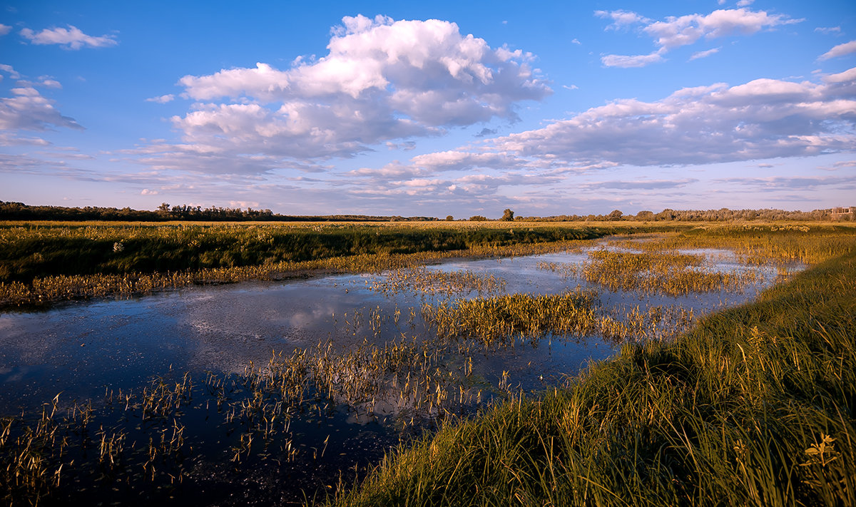
<instances>
[{"instance_id":1,"label":"tall green grassy bank sloping across the lower right foreground","mask_svg":"<svg viewBox=\"0 0 856 507\"><path fill-rule=\"evenodd\" d=\"M853 315L850 248L674 342L628 344L565 389L390 453L333 503L856 504Z\"/></svg>"}]
</instances>

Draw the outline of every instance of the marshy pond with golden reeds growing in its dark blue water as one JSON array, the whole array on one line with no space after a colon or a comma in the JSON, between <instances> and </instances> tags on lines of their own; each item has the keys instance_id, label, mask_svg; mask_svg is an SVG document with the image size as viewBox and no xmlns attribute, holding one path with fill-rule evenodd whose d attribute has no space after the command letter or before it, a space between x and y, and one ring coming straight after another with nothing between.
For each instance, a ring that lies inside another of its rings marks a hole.
<instances>
[{"instance_id":1,"label":"marshy pond with golden reeds growing in its dark blue water","mask_svg":"<svg viewBox=\"0 0 856 507\"><path fill-rule=\"evenodd\" d=\"M62 414L56 427L69 444L57 459L92 462L62 471L66 498L301 503L340 478L348 486L438 421L562 385L621 343L651 339L544 332L499 345L438 340L424 305L591 291L595 311L616 322L656 313L657 339L668 339L704 313L752 299L781 272L724 250L687 250L703 260L690 271L744 282L679 295L610 290L579 269L596 249L627 251L604 245L2 313L0 416ZM108 441L115 447L104 450Z\"/></svg>"}]
</instances>

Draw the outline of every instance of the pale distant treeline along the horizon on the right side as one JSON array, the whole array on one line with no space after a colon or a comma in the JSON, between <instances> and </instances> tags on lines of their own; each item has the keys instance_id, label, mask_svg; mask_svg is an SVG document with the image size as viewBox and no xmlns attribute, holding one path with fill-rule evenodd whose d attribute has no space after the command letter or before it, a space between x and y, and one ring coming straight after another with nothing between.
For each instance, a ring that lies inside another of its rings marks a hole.
<instances>
[{"instance_id":1,"label":"pale distant treeline along the horizon on the right side","mask_svg":"<svg viewBox=\"0 0 856 507\"><path fill-rule=\"evenodd\" d=\"M518 220L536 222L609 222L627 220L633 222L734 222L751 220L794 220L794 221L823 221L823 220L853 220L854 207L814 210L811 212L787 212L785 210L671 210L662 212L638 212L635 215L625 215L621 210L614 210L606 215L558 215L554 217L520 217ZM844 211L844 212L841 212Z\"/></svg>"}]
</instances>

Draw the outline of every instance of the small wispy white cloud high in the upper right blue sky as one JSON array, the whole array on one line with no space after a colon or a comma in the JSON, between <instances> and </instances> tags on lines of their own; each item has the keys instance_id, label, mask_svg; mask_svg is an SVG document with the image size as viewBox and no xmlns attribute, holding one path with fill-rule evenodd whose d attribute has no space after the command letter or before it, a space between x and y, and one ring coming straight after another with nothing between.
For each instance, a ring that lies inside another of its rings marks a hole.
<instances>
[{"instance_id":1,"label":"small wispy white cloud high in the upper right blue sky","mask_svg":"<svg viewBox=\"0 0 856 507\"><path fill-rule=\"evenodd\" d=\"M743 3L743 6L748 4ZM658 46L658 50L649 55L607 55L601 58L607 67L625 68L644 67L661 62L664 52L695 44L702 38L717 39L732 35L751 35L764 29L802 21L791 19L786 15L771 15L763 10L750 9L719 9L709 15L669 16L665 21L652 21L642 15L624 10L612 12L597 10L595 15L613 20L607 29L642 25L640 27L642 33L654 39L654 44Z\"/></svg>"}]
</instances>

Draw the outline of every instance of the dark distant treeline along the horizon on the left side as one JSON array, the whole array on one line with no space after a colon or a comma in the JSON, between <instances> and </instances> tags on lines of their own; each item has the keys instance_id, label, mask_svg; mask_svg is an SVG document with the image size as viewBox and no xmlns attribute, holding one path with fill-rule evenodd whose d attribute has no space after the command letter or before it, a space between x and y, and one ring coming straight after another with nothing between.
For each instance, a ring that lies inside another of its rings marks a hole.
<instances>
[{"instance_id":1,"label":"dark distant treeline along the horizon on the left side","mask_svg":"<svg viewBox=\"0 0 856 507\"><path fill-rule=\"evenodd\" d=\"M21 202L0 200L0 220L110 220L117 222L165 222L187 220L200 222L418 222L437 220L432 217L376 217L372 215L280 215L270 210L222 208L211 206L169 206L163 203L155 211L131 208L86 206L27 206Z\"/></svg>"}]
</instances>

